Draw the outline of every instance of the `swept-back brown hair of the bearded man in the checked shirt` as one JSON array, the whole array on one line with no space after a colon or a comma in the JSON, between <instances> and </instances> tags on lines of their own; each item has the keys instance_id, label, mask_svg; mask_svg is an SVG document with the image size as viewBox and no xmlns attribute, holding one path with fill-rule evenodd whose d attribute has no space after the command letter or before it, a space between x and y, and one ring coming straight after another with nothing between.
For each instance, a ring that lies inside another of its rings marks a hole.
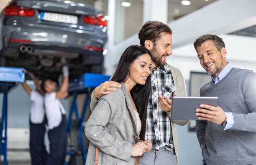
<instances>
[{"instance_id":1,"label":"swept-back brown hair of the bearded man in the checked shirt","mask_svg":"<svg viewBox=\"0 0 256 165\"><path fill-rule=\"evenodd\" d=\"M166 32L172 35L172 30L168 25L159 21L146 22L138 33L141 46L145 47L145 40L151 40L154 43L159 37L161 37L161 32Z\"/></svg>"}]
</instances>

